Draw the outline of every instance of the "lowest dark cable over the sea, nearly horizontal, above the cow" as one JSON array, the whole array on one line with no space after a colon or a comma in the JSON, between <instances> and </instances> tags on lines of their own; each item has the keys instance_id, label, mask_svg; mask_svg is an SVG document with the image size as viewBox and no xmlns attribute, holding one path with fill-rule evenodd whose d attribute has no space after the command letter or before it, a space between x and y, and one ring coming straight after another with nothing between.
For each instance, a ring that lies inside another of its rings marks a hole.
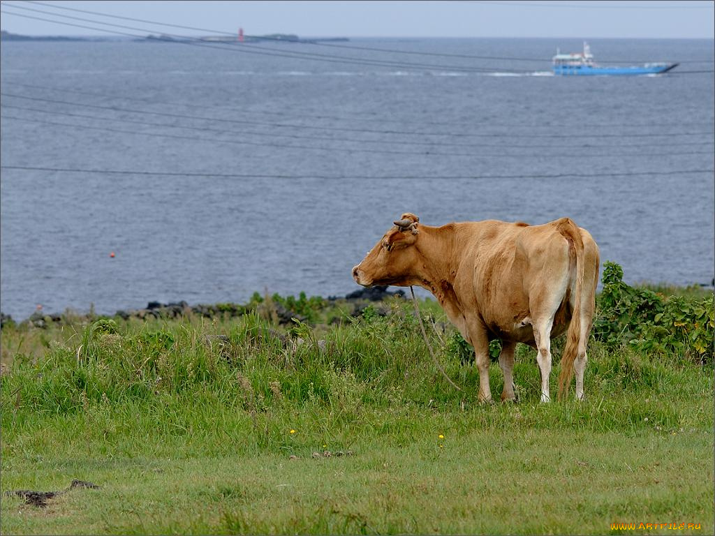
<instances>
[{"instance_id":1,"label":"lowest dark cable over the sea, nearly horizontal, above the cow","mask_svg":"<svg viewBox=\"0 0 715 536\"><path fill-rule=\"evenodd\" d=\"M360 179L360 180L458 180L458 179L562 179L562 178L592 178L592 177L635 177L643 175L675 175L675 174L697 174L712 173L714 169L672 169L667 171L649 172L621 172L621 173L558 173L558 174L520 174L520 175L448 175L448 176L424 176L424 175L289 175L289 174L256 174L256 173L187 173L187 172L149 172L132 171L127 169L80 169L61 167L39 167L39 166L7 166L0 165L0 169L17 169L24 171L45 171L45 172L66 172L66 173L94 173L94 174L122 174L122 175L156 175L159 177L221 177L236 179Z\"/></svg>"}]
</instances>

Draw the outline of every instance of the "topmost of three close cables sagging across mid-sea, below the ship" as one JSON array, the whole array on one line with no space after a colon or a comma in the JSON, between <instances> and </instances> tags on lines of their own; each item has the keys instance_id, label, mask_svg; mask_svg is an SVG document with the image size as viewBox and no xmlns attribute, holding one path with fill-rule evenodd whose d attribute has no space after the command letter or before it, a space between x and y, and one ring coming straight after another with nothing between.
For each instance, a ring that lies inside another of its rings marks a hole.
<instances>
[{"instance_id":1,"label":"topmost of three close cables sagging across mid-sea, below the ship","mask_svg":"<svg viewBox=\"0 0 715 536\"><path fill-rule=\"evenodd\" d=\"M314 125L300 125L300 124L289 124L289 123L267 123L267 122L262 122L262 121L247 121L245 119L226 119L226 118L219 118L219 117L204 117L204 116L192 116L192 115L185 115L185 114L172 114L169 112L163 112L163 111L148 111L148 110L137 110L137 109L131 109L131 108L124 108L124 107L119 107L119 106L102 106L99 104L87 104L87 103L81 103L81 102L72 102L72 101L62 101L59 99L44 99L41 97L36 97L36 96L26 96L26 95L19 95L19 94L11 94L11 93L4 93L0 91L0 96L11 96L15 97L17 99L26 99L26 100L31 100L31 101L43 101L43 102L51 102L54 104L69 104L70 106L81 106L81 107L87 107L87 108L95 108L95 109L106 109L106 110L112 110L112 111L127 111L129 113L137 113L137 114L149 114L149 115L157 115L157 116L166 116L166 117L177 117L177 118L182 118L182 119L198 119L201 121L219 121L219 122L224 122L224 123L234 123L234 124L252 124L252 125L260 125L260 126L272 126L272 127L280 127L280 128L293 128L293 129L311 129L311 130L331 130L331 131L351 131L351 132L371 132L371 133L376 133L376 134L401 134L401 135L410 135L410 136L424 136L424 135L429 135L429 136L449 136L449 137L476 137L476 138L484 138L484 137L506 137L506 138L533 138L535 135L534 134L503 134L503 133L485 133L485 134L467 134L467 133L439 133L439 132L410 132L410 131L396 131L396 130L374 130L374 129L352 129L352 128L347 128L347 127L337 127L337 126L314 126ZM652 138L652 137L670 137L670 136L703 136L703 135L709 135L713 134L711 131L697 131L697 132L664 132L661 134L654 134L654 133L649 133L649 134L538 134L538 137L542 138L641 138L641 137L647 137L647 138Z\"/></svg>"}]
</instances>

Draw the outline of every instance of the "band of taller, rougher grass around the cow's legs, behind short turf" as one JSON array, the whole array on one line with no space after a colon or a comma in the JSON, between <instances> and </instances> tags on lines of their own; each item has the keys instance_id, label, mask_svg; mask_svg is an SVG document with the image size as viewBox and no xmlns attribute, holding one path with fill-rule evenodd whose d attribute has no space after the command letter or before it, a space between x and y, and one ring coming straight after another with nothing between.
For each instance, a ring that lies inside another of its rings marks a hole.
<instances>
[{"instance_id":1,"label":"band of taller, rougher grass around the cow's legs, behind short turf","mask_svg":"<svg viewBox=\"0 0 715 536\"><path fill-rule=\"evenodd\" d=\"M77 331L74 344L71 337L64 342L53 339L39 359L16 354L2 378L4 407L12 408L3 412L2 422L7 431L21 430L42 415L102 413L127 406L141 407L149 415L173 407L185 417L200 415L202 405L217 405L255 422L305 408L325 410L333 419L348 422L366 408L463 412L475 407L478 372L448 344L455 332L430 333L440 362L462 392L440 374L416 318L398 303L386 317L368 314L332 327L320 339L305 324L294 329L293 337L281 334L256 312L237 322L94 322ZM710 372L677 357L628 347L614 352L592 341L586 373L589 402L541 406L531 349L519 349L515 369L520 407L538 408L531 417L521 416L531 419L529 425L599 431L710 425L707 415L684 412L678 404L709 399ZM553 374L558 374L558 364ZM496 366L490 383L494 393L501 391ZM469 415L485 421L480 425L498 425L513 412ZM270 448L270 442L260 447Z\"/></svg>"}]
</instances>

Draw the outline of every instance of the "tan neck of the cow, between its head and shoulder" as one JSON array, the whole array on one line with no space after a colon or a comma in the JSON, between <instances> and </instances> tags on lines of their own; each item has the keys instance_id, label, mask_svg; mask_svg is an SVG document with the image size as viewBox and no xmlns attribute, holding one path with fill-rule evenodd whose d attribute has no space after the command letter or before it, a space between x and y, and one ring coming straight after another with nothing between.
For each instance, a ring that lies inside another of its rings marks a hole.
<instances>
[{"instance_id":1,"label":"tan neck of the cow, between its head and shoulder","mask_svg":"<svg viewBox=\"0 0 715 536\"><path fill-rule=\"evenodd\" d=\"M460 303L454 292L457 275L455 224L443 227L420 225L420 237L415 244L420 261L415 283L435 296L449 317L461 314Z\"/></svg>"}]
</instances>

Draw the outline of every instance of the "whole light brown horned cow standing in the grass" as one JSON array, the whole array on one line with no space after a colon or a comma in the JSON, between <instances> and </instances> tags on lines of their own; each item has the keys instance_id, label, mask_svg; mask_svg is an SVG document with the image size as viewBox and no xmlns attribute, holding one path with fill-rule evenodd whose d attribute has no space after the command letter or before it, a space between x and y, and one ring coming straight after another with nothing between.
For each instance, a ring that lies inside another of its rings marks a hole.
<instances>
[{"instance_id":1,"label":"whole light brown horned cow standing in the grass","mask_svg":"<svg viewBox=\"0 0 715 536\"><path fill-rule=\"evenodd\" d=\"M450 322L474 347L479 399L491 400L489 341L501 339L501 399L514 399L517 342L538 349L541 401L550 399L551 337L568 330L559 397L576 369L583 398L586 344L598 284L598 247L571 219L530 226L496 220L430 227L403 214L368 252L352 277L365 287L419 285L439 300Z\"/></svg>"}]
</instances>

